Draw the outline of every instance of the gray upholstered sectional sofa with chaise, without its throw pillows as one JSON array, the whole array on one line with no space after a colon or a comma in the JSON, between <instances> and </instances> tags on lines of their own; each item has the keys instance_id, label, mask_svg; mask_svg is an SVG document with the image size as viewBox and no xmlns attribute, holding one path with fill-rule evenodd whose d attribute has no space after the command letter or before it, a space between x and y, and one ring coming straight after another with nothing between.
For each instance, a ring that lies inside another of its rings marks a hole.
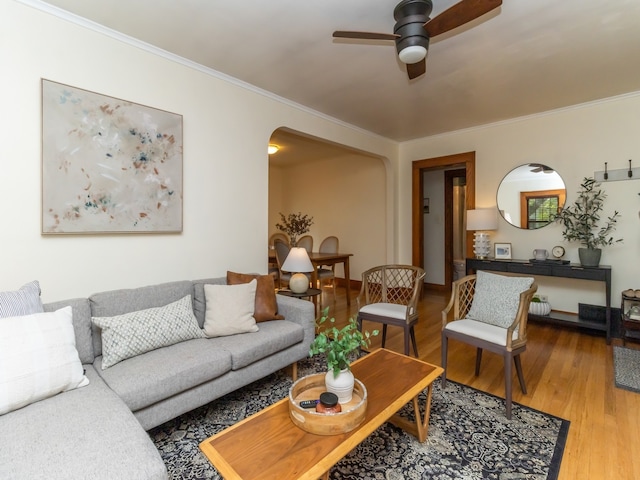
<instances>
[{"instance_id":1,"label":"gray upholstered sectional sofa with chaise, without its throw pillows","mask_svg":"<svg viewBox=\"0 0 640 480\"><path fill-rule=\"evenodd\" d=\"M89 385L0 415L0 478L162 479L167 471L146 430L306 357L314 336L310 302L277 295L284 320L255 333L196 338L101 368L92 317L167 305L191 295L200 327L205 284L178 281L97 293L44 305L70 305L78 355Z\"/></svg>"}]
</instances>

